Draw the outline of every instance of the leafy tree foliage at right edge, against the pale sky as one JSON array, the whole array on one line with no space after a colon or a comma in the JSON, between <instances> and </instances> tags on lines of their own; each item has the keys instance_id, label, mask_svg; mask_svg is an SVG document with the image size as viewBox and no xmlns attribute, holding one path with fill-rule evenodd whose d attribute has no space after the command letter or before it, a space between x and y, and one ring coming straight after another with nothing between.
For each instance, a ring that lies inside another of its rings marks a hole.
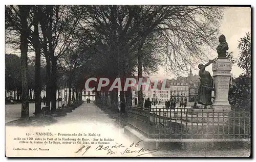
<instances>
[{"instance_id":1,"label":"leafy tree foliage at right edge, against the pale sky","mask_svg":"<svg viewBox=\"0 0 256 162\"><path fill-rule=\"evenodd\" d=\"M240 57L238 66L245 70L245 76L251 76L251 34L248 32L246 36L240 38L238 49Z\"/></svg>"}]
</instances>

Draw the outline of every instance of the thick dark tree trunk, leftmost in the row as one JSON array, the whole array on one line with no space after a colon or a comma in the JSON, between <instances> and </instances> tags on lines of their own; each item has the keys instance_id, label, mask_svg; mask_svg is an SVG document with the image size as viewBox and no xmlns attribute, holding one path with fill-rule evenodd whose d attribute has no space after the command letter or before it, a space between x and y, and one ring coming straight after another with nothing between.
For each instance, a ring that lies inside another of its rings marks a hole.
<instances>
[{"instance_id":1,"label":"thick dark tree trunk, leftmost in the row","mask_svg":"<svg viewBox=\"0 0 256 162\"><path fill-rule=\"evenodd\" d=\"M20 53L22 58L22 114L21 118L29 119L29 96L28 96L28 6L20 6L20 23L22 32L20 34Z\"/></svg>"}]
</instances>

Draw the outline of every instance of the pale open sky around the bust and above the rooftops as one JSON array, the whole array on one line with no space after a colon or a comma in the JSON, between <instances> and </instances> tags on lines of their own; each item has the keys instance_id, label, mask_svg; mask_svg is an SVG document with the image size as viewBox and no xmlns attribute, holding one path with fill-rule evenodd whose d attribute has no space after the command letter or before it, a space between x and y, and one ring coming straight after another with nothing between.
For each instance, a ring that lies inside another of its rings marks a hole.
<instances>
[{"instance_id":1,"label":"pale open sky around the bust and above the rooftops","mask_svg":"<svg viewBox=\"0 0 256 162\"><path fill-rule=\"evenodd\" d=\"M233 57L238 58L238 41L240 38L244 37L247 32L251 32L251 9L248 7L226 7L224 10L223 20L220 26L220 33L225 35L226 42L228 43L229 51L233 51ZM216 47L218 44L216 45ZM211 53L209 59L214 59L218 56L217 51ZM205 63L203 63L205 64ZM205 68L212 75L211 65ZM198 74L199 69L193 69L193 74ZM231 73L234 76L239 76L243 70L237 65L232 66ZM187 76L187 73L184 73L183 76ZM169 75L165 72L164 68L159 68L157 74L152 75L151 78L157 79L166 79L166 78L175 78L175 75Z\"/></svg>"}]
</instances>

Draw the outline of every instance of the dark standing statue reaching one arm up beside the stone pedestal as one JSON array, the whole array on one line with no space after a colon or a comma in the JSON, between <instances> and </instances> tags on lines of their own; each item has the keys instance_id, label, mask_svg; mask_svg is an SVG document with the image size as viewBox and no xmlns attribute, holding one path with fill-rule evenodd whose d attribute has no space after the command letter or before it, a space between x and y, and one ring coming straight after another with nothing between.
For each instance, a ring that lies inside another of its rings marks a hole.
<instances>
[{"instance_id":1,"label":"dark standing statue reaching one arm up beside the stone pedestal","mask_svg":"<svg viewBox=\"0 0 256 162\"><path fill-rule=\"evenodd\" d=\"M206 109L207 105L211 105L211 91L214 90L214 82L208 71L205 70L205 67L214 63L216 59L209 60L209 62L205 65L199 64L199 76L200 76L200 86L198 89L198 96L195 101L194 107L196 108L197 103L204 105L204 109Z\"/></svg>"}]
</instances>

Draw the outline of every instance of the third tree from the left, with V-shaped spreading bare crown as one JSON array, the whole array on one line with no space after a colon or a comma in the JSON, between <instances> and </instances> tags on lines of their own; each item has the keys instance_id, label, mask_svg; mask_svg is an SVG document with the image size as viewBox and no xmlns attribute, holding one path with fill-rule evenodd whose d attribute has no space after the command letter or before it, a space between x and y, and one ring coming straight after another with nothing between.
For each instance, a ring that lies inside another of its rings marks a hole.
<instances>
[{"instance_id":1,"label":"third tree from the left, with V-shaped spreading bare crown","mask_svg":"<svg viewBox=\"0 0 256 162\"><path fill-rule=\"evenodd\" d=\"M44 40L44 54L47 61L47 106L56 111L57 60L73 42L82 12L74 6L43 6L40 12L40 26ZM68 13L68 14L67 14ZM52 95L51 95L52 94Z\"/></svg>"}]
</instances>

